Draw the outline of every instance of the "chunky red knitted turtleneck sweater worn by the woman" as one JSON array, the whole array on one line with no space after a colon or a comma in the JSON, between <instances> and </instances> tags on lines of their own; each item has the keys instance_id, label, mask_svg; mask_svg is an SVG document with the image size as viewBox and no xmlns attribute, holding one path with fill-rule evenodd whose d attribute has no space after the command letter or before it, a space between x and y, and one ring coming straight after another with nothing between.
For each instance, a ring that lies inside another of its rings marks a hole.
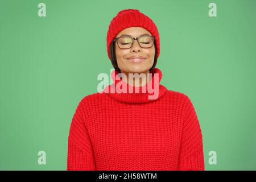
<instances>
[{"instance_id":1,"label":"chunky red knitted turtleneck sweater worn by the woman","mask_svg":"<svg viewBox=\"0 0 256 182\"><path fill-rule=\"evenodd\" d=\"M159 73L160 82L160 69L150 73L153 82ZM106 88L119 82L116 75ZM191 100L158 88L155 100L148 99L152 92L82 98L69 130L67 170L204 170L203 136Z\"/></svg>"}]
</instances>

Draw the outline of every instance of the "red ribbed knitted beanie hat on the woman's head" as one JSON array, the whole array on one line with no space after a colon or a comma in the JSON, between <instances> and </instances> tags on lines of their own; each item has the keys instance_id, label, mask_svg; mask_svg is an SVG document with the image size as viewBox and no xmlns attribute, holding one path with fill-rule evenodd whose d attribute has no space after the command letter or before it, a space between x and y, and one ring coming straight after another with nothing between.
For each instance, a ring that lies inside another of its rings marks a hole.
<instances>
[{"instance_id":1,"label":"red ribbed knitted beanie hat on the woman's head","mask_svg":"<svg viewBox=\"0 0 256 182\"><path fill-rule=\"evenodd\" d=\"M110 44L115 36L125 28L128 27L143 27L155 36L156 56L160 54L160 38L158 28L155 23L141 11L136 9L126 9L119 11L119 13L112 19L109 24L107 34L107 51L110 59ZM111 60L111 59L110 59Z\"/></svg>"}]
</instances>

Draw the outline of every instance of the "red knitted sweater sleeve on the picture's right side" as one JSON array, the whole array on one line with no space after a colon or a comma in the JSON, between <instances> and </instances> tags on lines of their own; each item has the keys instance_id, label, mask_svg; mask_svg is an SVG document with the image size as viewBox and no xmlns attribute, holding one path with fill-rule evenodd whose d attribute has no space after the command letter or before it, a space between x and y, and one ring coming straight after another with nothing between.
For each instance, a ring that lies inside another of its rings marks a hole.
<instances>
[{"instance_id":1,"label":"red knitted sweater sleeve on the picture's right side","mask_svg":"<svg viewBox=\"0 0 256 182\"><path fill-rule=\"evenodd\" d=\"M179 171L204 171L203 135L191 100L186 96Z\"/></svg>"}]
</instances>

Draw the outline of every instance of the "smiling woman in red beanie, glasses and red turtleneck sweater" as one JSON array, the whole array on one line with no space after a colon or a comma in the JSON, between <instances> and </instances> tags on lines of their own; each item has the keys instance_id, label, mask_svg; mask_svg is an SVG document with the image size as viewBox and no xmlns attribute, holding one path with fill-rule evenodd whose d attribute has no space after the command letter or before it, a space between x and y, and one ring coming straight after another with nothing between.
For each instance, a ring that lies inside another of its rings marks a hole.
<instances>
[{"instance_id":1,"label":"smiling woman in red beanie, glasses and red turtleneck sweater","mask_svg":"<svg viewBox=\"0 0 256 182\"><path fill-rule=\"evenodd\" d=\"M191 100L159 84L155 23L139 10L120 11L109 25L107 50L113 84L77 106L67 169L204 170L203 136Z\"/></svg>"}]
</instances>

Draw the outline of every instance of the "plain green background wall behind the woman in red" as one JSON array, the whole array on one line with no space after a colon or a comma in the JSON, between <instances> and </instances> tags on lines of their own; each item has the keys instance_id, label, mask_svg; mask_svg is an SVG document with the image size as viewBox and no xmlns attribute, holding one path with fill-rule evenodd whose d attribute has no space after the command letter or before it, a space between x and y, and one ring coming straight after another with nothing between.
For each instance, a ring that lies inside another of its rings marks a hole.
<instances>
[{"instance_id":1,"label":"plain green background wall behind the woman in red","mask_svg":"<svg viewBox=\"0 0 256 182\"><path fill-rule=\"evenodd\" d=\"M158 27L161 84L191 98L205 170L256 169L256 1L0 2L0 169L66 169L73 114L97 92L97 75L110 76L106 33L123 9L139 9ZM208 15L211 2L217 17Z\"/></svg>"}]
</instances>

